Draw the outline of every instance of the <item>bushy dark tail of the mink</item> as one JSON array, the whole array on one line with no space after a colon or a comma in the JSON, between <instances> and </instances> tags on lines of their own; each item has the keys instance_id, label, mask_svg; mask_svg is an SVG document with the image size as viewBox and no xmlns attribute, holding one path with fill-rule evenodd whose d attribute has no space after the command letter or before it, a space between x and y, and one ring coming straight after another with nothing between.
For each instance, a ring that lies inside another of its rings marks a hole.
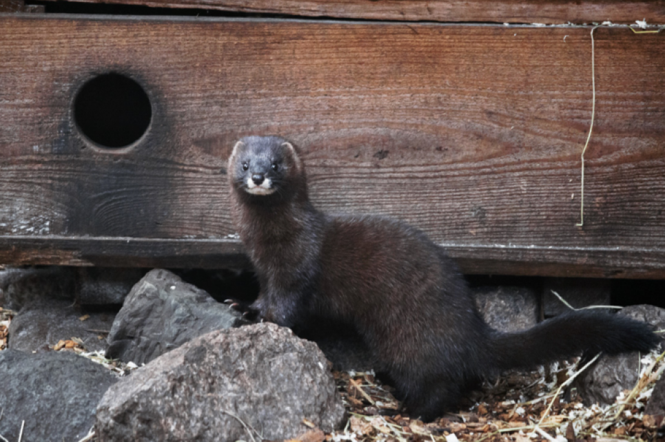
<instances>
[{"instance_id":1,"label":"bushy dark tail of the mink","mask_svg":"<svg viewBox=\"0 0 665 442\"><path fill-rule=\"evenodd\" d=\"M491 347L499 370L530 368L584 352L648 352L660 338L651 326L621 315L582 310L564 313L513 333L494 330Z\"/></svg>"}]
</instances>

